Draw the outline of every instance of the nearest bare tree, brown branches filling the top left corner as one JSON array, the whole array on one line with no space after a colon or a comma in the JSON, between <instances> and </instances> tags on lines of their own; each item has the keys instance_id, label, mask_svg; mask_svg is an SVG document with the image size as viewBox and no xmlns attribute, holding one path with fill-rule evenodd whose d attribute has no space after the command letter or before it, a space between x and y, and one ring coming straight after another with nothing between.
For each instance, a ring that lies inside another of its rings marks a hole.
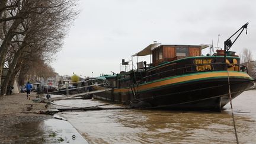
<instances>
[{"instance_id":1,"label":"nearest bare tree, brown branches filling the top left corner","mask_svg":"<svg viewBox=\"0 0 256 144\"><path fill-rule=\"evenodd\" d=\"M5 14L2 17L1 13L0 26L5 26L6 31L0 40L0 80L7 59L9 64L1 94L6 93L22 65L33 56L49 60L58 52L66 27L78 14L75 4L76 0L9 0L0 4L0 11Z\"/></svg>"}]
</instances>

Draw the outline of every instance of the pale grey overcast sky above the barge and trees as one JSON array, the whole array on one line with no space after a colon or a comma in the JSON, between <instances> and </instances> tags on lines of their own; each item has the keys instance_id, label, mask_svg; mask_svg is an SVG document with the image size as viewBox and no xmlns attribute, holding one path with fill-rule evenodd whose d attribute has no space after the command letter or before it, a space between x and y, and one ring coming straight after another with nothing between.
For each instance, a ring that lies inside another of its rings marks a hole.
<instances>
[{"instance_id":1,"label":"pale grey overcast sky above the barge and trees","mask_svg":"<svg viewBox=\"0 0 256 144\"><path fill-rule=\"evenodd\" d=\"M256 1L81 0L81 13L68 28L63 49L52 63L59 75L94 76L119 73L121 59L130 60L153 41L162 44L219 46L245 23L231 50L252 51L256 58ZM207 53L209 50L205 50Z\"/></svg>"}]
</instances>

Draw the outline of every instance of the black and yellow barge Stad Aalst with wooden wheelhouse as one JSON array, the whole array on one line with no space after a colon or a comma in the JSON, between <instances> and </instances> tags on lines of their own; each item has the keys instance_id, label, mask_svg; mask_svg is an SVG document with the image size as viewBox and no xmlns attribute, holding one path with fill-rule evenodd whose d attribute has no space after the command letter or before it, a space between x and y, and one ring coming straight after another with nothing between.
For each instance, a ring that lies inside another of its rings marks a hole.
<instances>
[{"instance_id":1,"label":"black and yellow barge Stad Aalst with wooden wheelhouse","mask_svg":"<svg viewBox=\"0 0 256 144\"><path fill-rule=\"evenodd\" d=\"M99 85L93 88L111 90L93 97L135 108L220 111L253 82L247 67L240 64L235 52L226 49L228 46L213 55L202 56L201 50L206 47L149 44L132 55L129 62L123 60L120 73L100 76ZM134 64L136 56L149 56L149 63Z\"/></svg>"}]
</instances>

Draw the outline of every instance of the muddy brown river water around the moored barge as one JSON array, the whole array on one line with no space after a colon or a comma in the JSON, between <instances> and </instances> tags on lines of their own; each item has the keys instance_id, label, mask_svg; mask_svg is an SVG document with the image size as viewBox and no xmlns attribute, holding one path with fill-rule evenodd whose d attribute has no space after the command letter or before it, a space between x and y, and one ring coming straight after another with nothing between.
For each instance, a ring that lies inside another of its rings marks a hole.
<instances>
[{"instance_id":1,"label":"muddy brown river water around the moored barge","mask_svg":"<svg viewBox=\"0 0 256 144\"><path fill-rule=\"evenodd\" d=\"M245 91L232 102L239 142L256 143L256 91ZM106 104L98 100L55 103L73 107ZM230 104L224 108L221 113L101 110L62 114L89 143L236 143Z\"/></svg>"}]
</instances>

